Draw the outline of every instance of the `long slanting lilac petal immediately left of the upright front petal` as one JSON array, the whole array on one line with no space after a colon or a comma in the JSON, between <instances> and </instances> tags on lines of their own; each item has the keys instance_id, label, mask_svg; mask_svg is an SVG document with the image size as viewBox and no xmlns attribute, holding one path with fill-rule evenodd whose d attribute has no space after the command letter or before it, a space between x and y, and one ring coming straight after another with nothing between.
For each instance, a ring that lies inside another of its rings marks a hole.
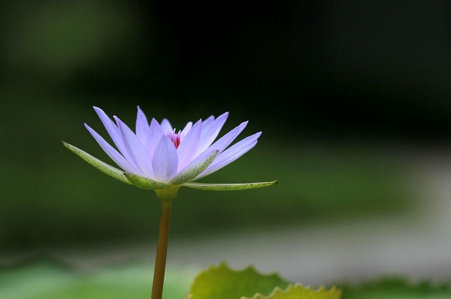
<instances>
[{"instance_id":1,"label":"long slanting lilac petal immediately left of the upright front petal","mask_svg":"<svg viewBox=\"0 0 451 299\"><path fill-rule=\"evenodd\" d=\"M146 151L144 146L138 140L135 133L117 116L113 116L116 120L117 125L122 133L122 139L124 140L125 147L127 151L132 155L133 160L135 161L138 169L147 177L154 178L153 172L151 169L152 159L150 158L149 153Z\"/></svg>"}]
</instances>

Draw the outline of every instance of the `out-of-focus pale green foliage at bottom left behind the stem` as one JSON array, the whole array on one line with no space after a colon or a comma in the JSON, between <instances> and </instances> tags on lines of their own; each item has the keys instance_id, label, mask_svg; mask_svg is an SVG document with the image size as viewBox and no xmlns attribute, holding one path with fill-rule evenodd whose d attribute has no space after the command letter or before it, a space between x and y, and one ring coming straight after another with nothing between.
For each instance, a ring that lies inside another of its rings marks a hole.
<instances>
[{"instance_id":1,"label":"out-of-focus pale green foliage at bottom left behind the stem","mask_svg":"<svg viewBox=\"0 0 451 299\"><path fill-rule=\"evenodd\" d=\"M53 262L38 262L6 271L0 268L2 299L148 298L153 265L145 262L78 271ZM183 298L195 269L167 269L164 298Z\"/></svg>"}]
</instances>

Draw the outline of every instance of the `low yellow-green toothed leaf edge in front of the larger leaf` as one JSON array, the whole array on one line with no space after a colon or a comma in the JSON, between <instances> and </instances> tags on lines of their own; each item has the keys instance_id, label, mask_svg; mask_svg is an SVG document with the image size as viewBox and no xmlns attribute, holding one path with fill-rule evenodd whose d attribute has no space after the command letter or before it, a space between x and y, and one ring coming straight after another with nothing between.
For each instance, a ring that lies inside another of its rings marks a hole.
<instances>
[{"instance_id":1,"label":"low yellow-green toothed leaf edge in front of the larger leaf","mask_svg":"<svg viewBox=\"0 0 451 299\"><path fill-rule=\"evenodd\" d=\"M323 286L313 289L310 286L301 284L291 284L286 289L276 287L268 295L255 294L252 298L243 297L242 299L340 299L341 290L332 287L327 289Z\"/></svg>"}]
</instances>

